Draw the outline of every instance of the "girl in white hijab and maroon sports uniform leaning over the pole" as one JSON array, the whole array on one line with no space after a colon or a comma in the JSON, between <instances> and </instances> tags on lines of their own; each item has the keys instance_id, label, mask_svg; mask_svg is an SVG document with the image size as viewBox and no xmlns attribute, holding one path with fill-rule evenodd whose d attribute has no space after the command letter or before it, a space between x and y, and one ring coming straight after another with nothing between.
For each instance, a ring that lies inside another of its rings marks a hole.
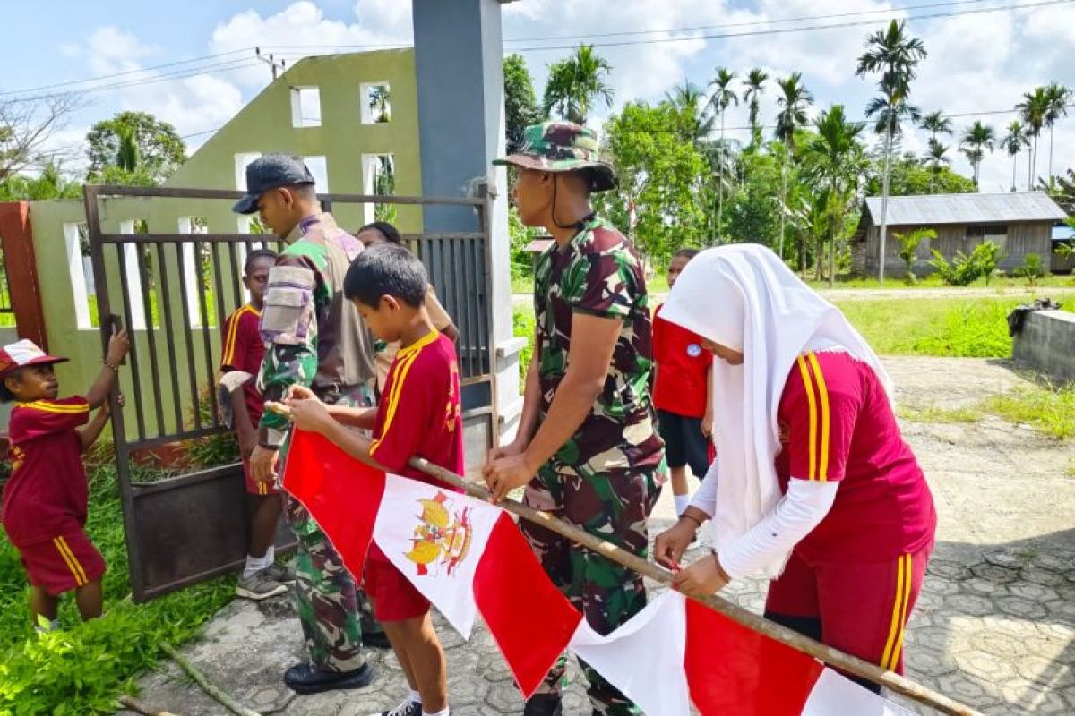
<instances>
[{"instance_id":1,"label":"girl in white hijab and maroon sports uniform leaning over the pole","mask_svg":"<svg viewBox=\"0 0 1075 716\"><path fill-rule=\"evenodd\" d=\"M676 587L713 594L765 574L769 618L902 673L903 627L936 514L877 355L838 309L752 244L696 257L661 316L721 359L717 459L656 552L678 569L710 518L716 549L678 572Z\"/></svg>"}]
</instances>

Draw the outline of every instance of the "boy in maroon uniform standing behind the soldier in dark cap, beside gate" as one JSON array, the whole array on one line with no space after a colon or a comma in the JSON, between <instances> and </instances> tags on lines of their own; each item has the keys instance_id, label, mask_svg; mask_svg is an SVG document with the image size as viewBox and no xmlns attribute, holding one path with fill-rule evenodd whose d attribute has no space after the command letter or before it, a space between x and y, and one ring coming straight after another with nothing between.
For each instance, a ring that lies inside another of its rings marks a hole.
<instances>
[{"instance_id":1,"label":"boy in maroon uniform standing behind the soldier in dark cap, beside gate","mask_svg":"<svg viewBox=\"0 0 1075 716\"><path fill-rule=\"evenodd\" d=\"M287 591L295 581L295 571L275 562L273 538L284 502L280 491L271 483L250 477L250 453L258 444L258 421L264 411L256 377L261 369L266 347L261 342L258 322L264 305L269 269L276 263L276 253L268 249L250 251L243 265L243 286L250 293L250 303L236 308L224 323L220 372L248 376L242 390L232 390L230 405L232 424L243 456L246 493L250 496L250 535L246 565L235 584L235 594L246 599L266 599Z\"/></svg>"}]
</instances>

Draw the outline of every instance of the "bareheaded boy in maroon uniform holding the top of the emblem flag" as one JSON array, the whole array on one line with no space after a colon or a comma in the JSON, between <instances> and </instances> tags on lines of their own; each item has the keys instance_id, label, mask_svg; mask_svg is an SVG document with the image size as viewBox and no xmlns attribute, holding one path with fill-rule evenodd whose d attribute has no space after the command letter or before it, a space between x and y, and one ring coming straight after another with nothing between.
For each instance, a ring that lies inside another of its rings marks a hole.
<instances>
[{"instance_id":1,"label":"bareheaded boy in maroon uniform holding the top of the emblem flag","mask_svg":"<svg viewBox=\"0 0 1075 716\"><path fill-rule=\"evenodd\" d=\"M456 349L433 327L425 308L428 284L421 262L402 246L373 246L360 253L347 271L344 294L376 338L400 341L381 405L326 407L300 386L291 388L288 403L297 427L325 435L349 455L387 472L455 489L407 465L419 456L457 474L463 471ZM373 440L348 426L372 428ZM382 716L448 716L447 664L429 601L372 543L366 587L411 686L403 702Z\"/></svg>"}]
</instances>

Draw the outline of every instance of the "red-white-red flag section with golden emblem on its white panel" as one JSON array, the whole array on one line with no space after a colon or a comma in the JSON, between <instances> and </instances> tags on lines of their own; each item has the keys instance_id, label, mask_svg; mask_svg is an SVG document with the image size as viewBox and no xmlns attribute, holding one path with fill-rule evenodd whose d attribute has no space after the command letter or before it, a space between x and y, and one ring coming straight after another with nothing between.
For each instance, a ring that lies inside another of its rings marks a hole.
<instances>
[{"instance_id":1,"label":"red-white-red flag section with golden emblem on its white panel","mask_svg":"<svg viewBox=\"0 0 1075 716\"><path fill-rule=\"evenodd\" d=\"M525 696L564 652L582 615L548 580L503 510L385 474L296 430L284 488L362 573L370 540L464 638L481 613Z\"/></svg>"}]
</instances>

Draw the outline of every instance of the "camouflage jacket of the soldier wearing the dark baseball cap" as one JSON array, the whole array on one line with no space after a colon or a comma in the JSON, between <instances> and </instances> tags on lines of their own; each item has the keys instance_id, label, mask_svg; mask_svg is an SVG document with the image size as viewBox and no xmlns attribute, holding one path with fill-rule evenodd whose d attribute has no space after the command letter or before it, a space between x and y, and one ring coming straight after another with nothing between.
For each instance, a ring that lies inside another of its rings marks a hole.
<instances>
[{"instance_id":1,"label":"camouflage jacket of the soldier wearing the dark baseball cap","mask_svg":"<svg viewBox=\"0 0 1075 716\"><path fill-rule=\"evenodd\" d=\"M343 296L344 275L362 244L330 214L306 217L298 233L269 272L258 390L266 400L280 400L291 385L307 385L332 403L375 375L373 338ZM266 411L258 427L262 445L278 447L288 423Z\"/></svg>"}]
</instances>

